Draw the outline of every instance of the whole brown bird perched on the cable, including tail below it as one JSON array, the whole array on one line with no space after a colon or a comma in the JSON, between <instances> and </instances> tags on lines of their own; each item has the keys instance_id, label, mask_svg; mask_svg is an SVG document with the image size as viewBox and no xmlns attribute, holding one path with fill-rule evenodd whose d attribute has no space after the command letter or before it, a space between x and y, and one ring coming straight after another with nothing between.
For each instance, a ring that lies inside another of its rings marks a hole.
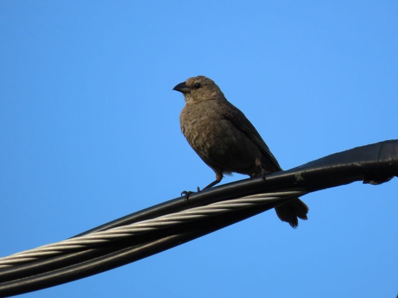
<instances>
[{"instance_id":1,"label":"whole brown bird perched on the cable, including tail below it","mask_svg":"<svg viewBox=\"0 0 398 298\"><path fill-rule=\"evenodd\" d=\"M266 174L282 171L254 126L211 79L203 75L191 77L173 90L183 93L185 99L180 115L181 131L215 172L215 180L205 188L219 183L224 173L264 178ZM298 226L298 218L307 219L308 207L298 198L275 210L281 221L294 228Z\"/></svg>"}]
</instances>

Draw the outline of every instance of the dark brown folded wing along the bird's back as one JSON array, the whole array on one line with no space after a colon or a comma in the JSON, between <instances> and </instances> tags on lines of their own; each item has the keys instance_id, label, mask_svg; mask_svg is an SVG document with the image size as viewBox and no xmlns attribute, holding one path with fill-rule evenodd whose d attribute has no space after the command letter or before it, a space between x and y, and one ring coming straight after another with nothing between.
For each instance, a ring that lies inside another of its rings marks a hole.
<instances>
[{"instance_id":1,"label":"dark brown folded wing along the bird's back","mask_svg":"<svg viewBox=\"0 0 398 298\"><path fill-rule=\"evenodd\" d=\"M278 160L275 158L274 154L265 144L264 140L261 138L260 134L257 132L256 128L250 121L246 118L237 107L231 104L229 101L225 101L224 118L229 120L238 130L242 131L250 140L256 144L256 146L272 161L277 169L282 171Z\"/></svg>"}]
</instances>

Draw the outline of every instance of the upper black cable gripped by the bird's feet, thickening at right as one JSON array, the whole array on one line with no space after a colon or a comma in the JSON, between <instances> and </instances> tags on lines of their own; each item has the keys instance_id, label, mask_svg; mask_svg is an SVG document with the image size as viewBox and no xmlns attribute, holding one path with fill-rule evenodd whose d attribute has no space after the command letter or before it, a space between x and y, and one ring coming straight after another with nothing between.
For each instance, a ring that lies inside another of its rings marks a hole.
<instances>
[{"instance_id":1,"label":"upper black cable gripped by the bird's feet, thickening at right","mask_svg":"<svg viewBox=\"0 0 398 298\"><path fill-rule=\"evenodd\" d=\"M302 179L298 179L298 174ZM315 191L354 181L365 183L375 179L383 183L393 176L398 176L398 140L356 147L310 161L287 171L273 173L267 176L267 183L264 183L261 178L253 178L212 187L193 193L189 203L183 197L170 200L99 225L75 237L217 201L272 190L292 190L292 186Z\"/></svg>"}]
</instances>

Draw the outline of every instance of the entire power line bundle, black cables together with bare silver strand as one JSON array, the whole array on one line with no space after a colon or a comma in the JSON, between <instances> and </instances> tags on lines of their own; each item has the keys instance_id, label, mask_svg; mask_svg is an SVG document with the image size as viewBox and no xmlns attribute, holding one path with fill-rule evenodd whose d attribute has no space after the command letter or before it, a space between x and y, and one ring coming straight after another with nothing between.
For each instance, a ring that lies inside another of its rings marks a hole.
<instances>
[{"instance_id":1,"label":"entire power line bundle, black cables together with bare silver strand","mask_svg":"<svg viewBox=\"0 0 398 298\"><path fill-rule=\"evenodd\" d=\"M122 266L272 209L293 194L354 181L381 184L394 176L398 176L398 140L331 154L273 173L265 182L246 179L192 194L188 202L184 198L167 201L83 232L68 239L70 242L65 240L70 247L55 243L49 251L40 250L43 247L31 250L17 262L10 260L18 257L3 258L6 267L0 268L0 296L44 289ZM225 201L234 208L228 209ZM100 231L106 232L97 233ZM106 241L105 235L109 236ZM84 244L82 239L86 239ZM61 245L60 252L55 254L57 245ZM27 252L15 255L23 253Z\"/></svg>"}]
</instances>

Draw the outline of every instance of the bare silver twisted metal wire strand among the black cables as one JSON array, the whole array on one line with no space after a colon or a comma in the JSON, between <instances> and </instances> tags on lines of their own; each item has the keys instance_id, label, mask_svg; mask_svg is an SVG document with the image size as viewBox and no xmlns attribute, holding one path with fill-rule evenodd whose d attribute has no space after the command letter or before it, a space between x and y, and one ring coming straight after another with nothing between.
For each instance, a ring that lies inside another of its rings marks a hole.
<instances>
[{"instance_id":1,"label":"bare silver twisted metal wire strand among the black cables","mask_svg":"<svg viewBox=\"0 0 398 298\"><path fill-rule=\"evenodd\" d=\"M177 224L202 219L205 217L224 214L238 209L245 209L255 205L269 203L289 197L302 196L304 191L283 191L255 194L238 199L226 200L205 206L194 207L177 213L160 216L154 219L114 227L88 235L69 238L59 242L46 244L37 248L25 250L0 258L0 269L9 268L40 258L57 256L76 250L84 250L93 245L120 240L160 228L171 227Z\"/></svg>"}]
</instances>

